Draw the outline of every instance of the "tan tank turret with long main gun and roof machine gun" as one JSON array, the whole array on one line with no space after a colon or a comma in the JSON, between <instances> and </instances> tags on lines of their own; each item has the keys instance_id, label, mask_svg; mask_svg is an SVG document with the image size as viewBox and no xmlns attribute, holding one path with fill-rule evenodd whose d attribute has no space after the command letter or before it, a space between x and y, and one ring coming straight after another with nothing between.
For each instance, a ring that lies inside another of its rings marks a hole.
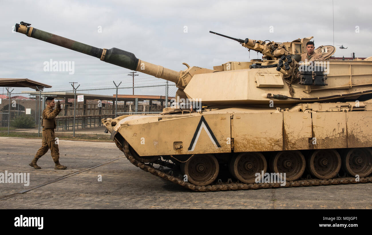
<instances>
[{"instance_id":1,"label":"tan tank turret with long main gun and roof machine gun","mask_svg":"<svg viewBox=\"0 0 372 235\"><path fill-rule=\"evenodd\" d=\"M176 83L180 99L202 100L204 105L292 104L359 98L372 93L372 84L361 74L368 74L371 61L314 61L298 63L299 55L312 38L292 42L266 42L246 38L236 39L210 31L235 41L242 46L261 52L262 60L227 62L213 70L186 65L184 71L174 71L135 57L118 48L97 48L31 27L21 22L16 32L31 38L91 55L102 61L129 70L139 71ZM334 53L332 46L321 46L323 55ZM316 50L315 50L316 51ZM297 58L296 58L297 57ZM351 63L351 64L350 64ZM352 69L358 68L358 70ZM176 98L178 100L178 98Z\"/></svg>"}]
</instances>

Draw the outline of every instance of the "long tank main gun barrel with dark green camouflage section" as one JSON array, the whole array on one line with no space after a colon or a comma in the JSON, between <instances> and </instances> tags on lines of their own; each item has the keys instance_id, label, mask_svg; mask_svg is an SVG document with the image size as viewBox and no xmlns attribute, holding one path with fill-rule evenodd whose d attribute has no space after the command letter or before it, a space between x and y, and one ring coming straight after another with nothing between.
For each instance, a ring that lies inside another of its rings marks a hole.
<instances>
[{"instance_id":1,"label":"long tank main gun barrel with dark green camouflage section","mask_svg":"<svg viewBox=\"0 0 372 235\"><path fill-rule=\"evenodd\" d=\"M142 61L141 59L136 58L136 56L131 52L115 47L111 49L97 48L40 29L35 29L30 25L31 24L29 23L20 22L20 24L16 24L15 31L23 33L31 38L36 38L44 42L49 42L57 46L62 46L67 49L97 57L110 64L118 65L129 70L139 71L157 78L163 78L174 83L177 83L180 78L180 72Z\"/></svg>"}]
</instances>

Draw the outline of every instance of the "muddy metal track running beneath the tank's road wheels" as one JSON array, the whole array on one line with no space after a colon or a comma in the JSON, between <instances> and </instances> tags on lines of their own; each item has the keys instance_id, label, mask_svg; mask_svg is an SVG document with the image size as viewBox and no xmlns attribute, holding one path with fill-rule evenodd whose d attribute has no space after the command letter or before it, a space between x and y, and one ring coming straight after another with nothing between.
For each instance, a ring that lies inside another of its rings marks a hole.
<instances>
[{"instance_id":1,"label":"muddy metal track running beneath the tank's road wheels","mask_svg":"<svg viewBox=\"0 0 372 235\"><path fill-rule=\"evenodd\" d=\"M320 185L336 185L336 184L356 184L356 183L372 183L372 177L361 177L360 181L355 181L354 177L347 177L347 178L333 178L329 180L320 180L320 179L306 179L306 180L296 180L296 181L287 181L285 186L280 186L280 183L222 183L221 181L219 184L211 184L208 186L198 186L195 184L191 184L189 182L185 182L181 177L173 176L173 171L169 170L167 173L163 171L164 167L174 168L174 164L171 164L166 161L156 160L155 164L161 165L159 168L153 167L153 163L145 164L136 160L131 152L129 151L129 144L128 142L124 141L124 149L121 144L118 143L115 139L116 146L125 154L125 157L135 165L136 167L141 168L144 171L150 172L155 176L159 176L166 180L169 180L173 183L179 184L182 187L193 191L227 191L227 190L246 190L246 189L269 189L269 188L280 188L280 187L300 187L300 186L320 186Z\"/></svg>"}]
</instances>

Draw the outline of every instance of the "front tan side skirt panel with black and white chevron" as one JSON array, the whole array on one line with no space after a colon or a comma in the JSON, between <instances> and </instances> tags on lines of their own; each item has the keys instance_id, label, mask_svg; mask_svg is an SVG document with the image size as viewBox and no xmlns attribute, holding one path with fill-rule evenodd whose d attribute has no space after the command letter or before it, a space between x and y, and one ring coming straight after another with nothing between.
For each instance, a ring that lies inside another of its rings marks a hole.
<instances>
[{"instance_id":1,"label":"front tan side skirt panel with black and white chevron","mask_svg":"<svg viewBox=\"0 0 372 235\"><path fill-rule=\"evenodd\" d=\"M125 126L119 133L141 156L231 151L231 145L228 144L228 113L163 119L153 123ZM182 149L174 149L174 142L182 142Z\"/></svg>"}]
</instances>

